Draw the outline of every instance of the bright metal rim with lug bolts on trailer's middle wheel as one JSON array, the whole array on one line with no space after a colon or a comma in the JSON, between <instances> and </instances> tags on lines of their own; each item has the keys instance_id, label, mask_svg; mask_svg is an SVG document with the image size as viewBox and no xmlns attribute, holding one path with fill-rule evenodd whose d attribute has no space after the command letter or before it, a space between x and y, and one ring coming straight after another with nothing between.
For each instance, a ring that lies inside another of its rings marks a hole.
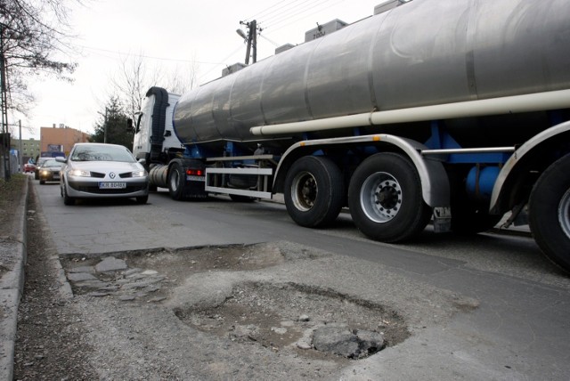
<instances>
[{"instance_id":1,"label":"bright metal rim with lug bolts on trailer's middle wheel","mask_svg":"<svg viewBox=\"0 0 570 381\"><path fill-rule=\"evenodd\" d=\"M391 174L371 174L362 184L360 202L368 218L376 223L387 223L402 207L402 187Z\"/></svg>"}]
</instances>

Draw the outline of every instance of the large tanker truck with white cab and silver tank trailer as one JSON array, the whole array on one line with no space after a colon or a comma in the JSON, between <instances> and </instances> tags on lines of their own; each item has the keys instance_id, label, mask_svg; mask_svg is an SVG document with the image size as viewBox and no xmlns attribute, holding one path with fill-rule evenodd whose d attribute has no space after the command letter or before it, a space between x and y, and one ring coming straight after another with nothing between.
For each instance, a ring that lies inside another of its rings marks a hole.
<instances>
[{"instance_id":1,"label":"large tanker truck with white cab and silver tank trailer","mask_svg":"<svg viewBox=\"0 0 570 381\"><path fill-rule=\"evenodd\" d=\"M413 0L192 89L152 87L134 154L173 199L282 194L371 239L526 217L570 272L570 2ZM280 196L281 197L281 196Z\"/></svg>"}]
</instances>

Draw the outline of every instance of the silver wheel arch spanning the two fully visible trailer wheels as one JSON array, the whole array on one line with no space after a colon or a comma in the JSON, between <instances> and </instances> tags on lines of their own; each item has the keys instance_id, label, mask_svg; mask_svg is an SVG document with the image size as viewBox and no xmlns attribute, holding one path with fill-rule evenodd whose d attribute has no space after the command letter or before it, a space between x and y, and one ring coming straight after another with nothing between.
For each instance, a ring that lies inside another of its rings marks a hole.
<instances>
[{"instance_id":1,"label":"silver wheel arch spanning the two fully visible trailer wheels","mask_svg":"<svg viewBox=\"0 0 570 381\"><path fill-rule=\"evenodd\" d=\"M375 134L354 136L336 139L322 139L314 141L297 142L289 147L275 170L273 180L273 192L281 192L285 182L285 176L292 164L306 155L311 155L317 150L322 150L335 144L374 145L379 150L395 151L411 160L419 174L422 197L429 207L450 206L450 186L444 166L435 159L424 158L421 150L427 149L425 145L411 139L402 138L390 134Z\"/></svg>"}]
</instances>

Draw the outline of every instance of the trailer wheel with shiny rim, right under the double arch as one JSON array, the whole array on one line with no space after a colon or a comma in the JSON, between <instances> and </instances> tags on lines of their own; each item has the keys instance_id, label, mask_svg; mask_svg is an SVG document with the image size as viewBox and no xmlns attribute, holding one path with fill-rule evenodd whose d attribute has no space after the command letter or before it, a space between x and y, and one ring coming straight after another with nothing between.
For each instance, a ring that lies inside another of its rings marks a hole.
<instances>
[{"instance_id":1,"label":"trailer wheel with shiny rim, right under the double arch","mask_svg":"<svg viewBox=\"0 0 570 381\"><path fill-rule=\"evenodd\" d=\"M356 168L348 187L348 207L356 227L383 242L411 239L431 217L418 171L394 153L376 154Z\"/></svg>"}]
</instances>

